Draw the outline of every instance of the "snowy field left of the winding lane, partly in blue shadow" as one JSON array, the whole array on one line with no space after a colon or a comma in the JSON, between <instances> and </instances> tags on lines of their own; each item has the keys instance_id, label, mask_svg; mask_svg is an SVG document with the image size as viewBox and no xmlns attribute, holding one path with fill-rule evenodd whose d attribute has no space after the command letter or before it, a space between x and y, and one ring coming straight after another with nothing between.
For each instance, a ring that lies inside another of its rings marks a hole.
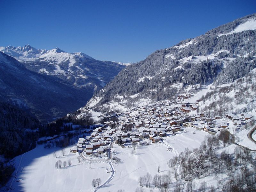
<instances>
[{"instance_id":1,"label":"snowy field left of the winding lane, partly in blue shadow","mask_svg":"<svg viewBox=\"0 0 256 192\"><path fill-rule=\"evenodd\" d=\"M24 155L15 157L18 172L12 182L13 191L93 191L92 179L101 178L102 182L108 179L111 173L106 172L109 169L107 162L93 161L90 169L89 162L78 163L78 153L69 153L70 148L65 148L67 154L62 156L60 148L45 149L43 145L38 145ZM53 156L55 150L57 158ZM68 166L69 159L71 166ZM55 168L59 160L62 163L66 161L67 166Z\"/></svg>"}]
</instances>

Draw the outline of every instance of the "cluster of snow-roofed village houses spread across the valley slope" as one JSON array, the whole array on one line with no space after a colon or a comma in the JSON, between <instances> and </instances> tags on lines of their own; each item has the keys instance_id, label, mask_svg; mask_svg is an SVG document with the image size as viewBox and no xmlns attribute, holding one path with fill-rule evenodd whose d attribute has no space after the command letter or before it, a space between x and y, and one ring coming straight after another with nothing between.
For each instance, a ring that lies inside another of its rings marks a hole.
<instances>
[{"instance_id":1,"label":"cluster of snow-roofed village houses spread across the valley slope","mask_svg":"<svg viewBox=\"0 0 256 192\"><path fill-rule=\"evenodd\" d=\"M179 95L178 97L191 97L191 95ZM216 124L218 119L231 119L235 125L249 123L252 116L242 113L234 115L226 113L225 116L206 117L204 114L189 116L189 112L197 109L196 103L178 103L159 101L148 106L133 108L125 113L113 113L111 111L103 113L102 117L116 117L118 121L107 121L100 124L86 138L78 140L73 152L85 152L86 155L92 153L104 153L111 140L117 140L121 136L122 143L137 143L141 140L149 139L152 143L161 140L175 132L183 130L185 127L194 127L210 134L215 134L214 129L225 129L228 123ZM174 107L175 106L175 107ZM180 107L178 107L180 106Z\"/></svg>"}]
</instances>

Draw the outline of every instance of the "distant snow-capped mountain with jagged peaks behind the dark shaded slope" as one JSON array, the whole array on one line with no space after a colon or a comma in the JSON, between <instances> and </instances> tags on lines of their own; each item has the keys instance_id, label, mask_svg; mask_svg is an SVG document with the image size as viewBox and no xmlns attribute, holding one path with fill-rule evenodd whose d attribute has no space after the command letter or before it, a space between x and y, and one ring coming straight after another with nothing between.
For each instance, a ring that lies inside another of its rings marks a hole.
<instances>
[{"instance_id":1,"label":"distant snow-capped mountain with jagged peaks behind the dark shaded slope","mask_svg":"<svg viewBox=\"0 0 256 192\"><path fill-rule=\"evenodd\" d=\"M122 64L95 60L82 52L67 53L59 48L45 50L25 45L0 47L0 51L19 60L29 70L57 76L92 92L102 88L125 68Z\"/></svg>"}]
</instances>

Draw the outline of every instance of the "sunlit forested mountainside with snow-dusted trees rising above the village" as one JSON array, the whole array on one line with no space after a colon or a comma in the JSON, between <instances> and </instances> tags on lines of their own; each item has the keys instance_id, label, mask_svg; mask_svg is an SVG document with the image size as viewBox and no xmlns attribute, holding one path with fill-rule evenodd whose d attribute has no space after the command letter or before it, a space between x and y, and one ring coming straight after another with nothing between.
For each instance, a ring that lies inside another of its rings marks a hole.
<instances>
[{"instance_id":1,"label":"sunlit forested mountainside with snow-dusted trees rising above the village","mask_svg":"<svg viewBox=\"0 0 256 192\"><path fill-rule=\"evenodd\" d=\"M256 67L256 14L206 32L176 46L161 49L123 69L94 94L90 107L112 102L117 96L139 93L153 100L172 99L193 84L231 83ZM96 102L97 100L97 102Z\"/></svg>"}]
</instances>

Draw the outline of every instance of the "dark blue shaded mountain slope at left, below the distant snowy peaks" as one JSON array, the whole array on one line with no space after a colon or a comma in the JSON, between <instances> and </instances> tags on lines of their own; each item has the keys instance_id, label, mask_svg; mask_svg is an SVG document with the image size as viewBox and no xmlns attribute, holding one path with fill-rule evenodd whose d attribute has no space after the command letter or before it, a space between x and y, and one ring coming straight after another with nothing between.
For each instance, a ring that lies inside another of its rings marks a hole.
<instances>
[{"instance_id":1,"label":"dark blue shaded mountain slope at left, below the distant snowy peaks","mask_svg":"<svg viewBox=\"0 0 256 192\"><path fill-rule=\"evenodd\" d=\"M51 121L85 105L92 96L57 77L30 71L0 52L0 98L28 109L41 122Z\"/></svg>"}]
</instances>

